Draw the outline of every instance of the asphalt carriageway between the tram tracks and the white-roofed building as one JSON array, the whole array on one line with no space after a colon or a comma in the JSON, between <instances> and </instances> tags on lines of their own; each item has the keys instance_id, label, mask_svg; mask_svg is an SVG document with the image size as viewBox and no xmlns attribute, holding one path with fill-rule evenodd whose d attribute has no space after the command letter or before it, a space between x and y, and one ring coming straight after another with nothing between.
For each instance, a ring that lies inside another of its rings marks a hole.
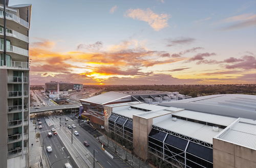
<instances>
[{"instance_id":1,"label":"asphalt carriageway between the tram tracks and the white-roofed building","mask_svg":"<svg viewBox=\"0 0 256 168\"><path fill-rule=\"evenodd\" d=\"M65 121L65 118L68 118L69 121ZM69 115L61 116L61 125L67 126L66 129L71 133L71 129L68 128L68 125L75 124L76 128L73 128L73 132L75 130L78 131L79 135L76 136L77 139L83 143L87 141L90 146L87 149L93 154L93 150L95 150L95 158L98 160L99 164L102 167L131 167L129 164L125 163L122 159L116 156L113 152L108 151L111 155L114 156L114 159L110 158L105 152L101 149L101 144L94 138L88 131L84 130L82 127L78 125L78 121L75 122L69 118ZM67 123L67 124L66 124ZM83 123L87 124L87 123ZM74 135L75 136L75 135Z\"/></svg>"}]
</instances>

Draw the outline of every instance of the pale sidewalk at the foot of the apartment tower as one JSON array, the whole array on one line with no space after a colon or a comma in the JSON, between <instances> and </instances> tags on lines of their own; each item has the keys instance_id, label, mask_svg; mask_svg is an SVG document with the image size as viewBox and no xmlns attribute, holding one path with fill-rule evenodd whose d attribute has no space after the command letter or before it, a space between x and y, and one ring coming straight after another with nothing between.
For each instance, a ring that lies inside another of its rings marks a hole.
<instances>
[{"instance_id":1,"label":"pale sidewalk at the foot of the apartment tower","mask_svg":"<svg viewBox=\"0 0 256 168\"><path fill-rule=\"evenodd\" d=\"M30 120L29 122L29 165L31 166L37 162L40 162L42 167L49 167L46 160L41 159L42 145L40 138L35 137L35 124L33 124L33 120ZM33 144L33 146L31 146L31 144Z\"/></svg>"}]
</instances>

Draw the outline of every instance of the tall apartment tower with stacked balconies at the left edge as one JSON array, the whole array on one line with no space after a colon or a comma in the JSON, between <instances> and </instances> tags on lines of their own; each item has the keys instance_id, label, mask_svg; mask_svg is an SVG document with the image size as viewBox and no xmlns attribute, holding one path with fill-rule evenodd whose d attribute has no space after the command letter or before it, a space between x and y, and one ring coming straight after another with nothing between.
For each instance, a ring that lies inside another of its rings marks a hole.
<instances>
[{"instance_id":1,"label":"tall apartment tower with stacked balconies at the left edge","mask_svg":"<svg viewBox=\"0 0 256 168\"><path fill-rule=\"evenodd\" d=\"M0 167L29 167L31 5L0 0Z\"/></svg>"}]
</instances>

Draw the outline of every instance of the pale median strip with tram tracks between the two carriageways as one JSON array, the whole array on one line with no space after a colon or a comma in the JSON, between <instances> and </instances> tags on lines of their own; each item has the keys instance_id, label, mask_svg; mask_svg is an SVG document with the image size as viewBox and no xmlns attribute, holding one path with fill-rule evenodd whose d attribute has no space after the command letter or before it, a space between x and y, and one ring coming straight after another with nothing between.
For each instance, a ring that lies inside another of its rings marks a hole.
<instances>
[{"instance_id":1,"label":"pale median strip with tram tracks between the two carriageways","mask_svg":"<svg viewBox=\"0 0 256 168\"><path fill-rule=\"evenodd\" d=\"M52 120L52 119L50 119ZM54 117L53 125L56 128L58 136L60 137L62 143L65 145L70 155L77 163L79 167L93 167L93 156L92 154L83 146L83 144L73 136L73 144L71 144L71 134L66 127L59 126L58 120ZM79 150L79 151L78 151ZM95 160L97 162L97 160ZM97 163L95 167L100 167Z\"/></svg>"}]
</instances>

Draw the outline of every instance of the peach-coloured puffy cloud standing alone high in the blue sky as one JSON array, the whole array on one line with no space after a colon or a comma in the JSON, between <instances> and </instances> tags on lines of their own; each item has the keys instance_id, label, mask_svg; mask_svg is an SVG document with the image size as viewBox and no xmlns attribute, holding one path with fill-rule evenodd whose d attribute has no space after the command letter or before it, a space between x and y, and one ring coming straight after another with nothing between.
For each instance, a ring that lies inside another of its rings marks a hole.
<instances>
[{"instance_id":1,"label":"peach-coloured puffy cloud standing alone high in the blue sky","mask_svg":"<svg viewBox=\"0 0 256 168\"><path fill-rule=\"evenodd\" d=\"M170 15L168 14L156 14L151 9L129 9L125 13L126 17L131 17L133 19L142 20L150 24L150 26L155 31L160 31L168 26L168 19Z\"/></svg>"}]
</instances>

